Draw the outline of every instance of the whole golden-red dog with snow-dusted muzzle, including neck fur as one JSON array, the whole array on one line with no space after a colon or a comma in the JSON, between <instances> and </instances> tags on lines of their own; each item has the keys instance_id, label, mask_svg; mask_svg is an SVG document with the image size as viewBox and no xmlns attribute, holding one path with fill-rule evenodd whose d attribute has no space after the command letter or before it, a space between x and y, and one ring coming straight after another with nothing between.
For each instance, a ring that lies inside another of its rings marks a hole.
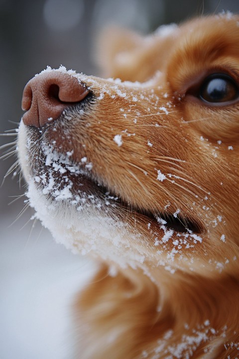
<instances>
[{"instance_id":1,"label":"whole golden-red dog with snow-dusted muzzle, including neck fur","mask_svg":"<svg viewBox=\"0 0 239 359\"><path fill-rule=\"evenodd\" d=\"M98 272L74 358L239 358L239 16L112 28L104 78L47 67L18 159L35 217Z\"/></svg>"}]
</instances>

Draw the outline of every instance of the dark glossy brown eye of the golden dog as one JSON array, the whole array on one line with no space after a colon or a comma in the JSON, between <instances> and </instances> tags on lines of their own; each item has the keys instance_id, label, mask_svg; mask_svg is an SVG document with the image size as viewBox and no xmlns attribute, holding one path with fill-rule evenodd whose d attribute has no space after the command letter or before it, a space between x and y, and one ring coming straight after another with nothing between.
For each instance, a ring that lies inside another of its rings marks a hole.
<instances>
[{"instance_id":1,"label":"dark glossy brown eye of the golden dog","mask_svg":"<svg viewBox=\"0 0 239 359\"><path fill-rule=\"evenodd\" d=\"M199 97L210 103L229 102L239 97L239 88L231 76L216 73L203 82Z\"/></svg>"}]
</instances>

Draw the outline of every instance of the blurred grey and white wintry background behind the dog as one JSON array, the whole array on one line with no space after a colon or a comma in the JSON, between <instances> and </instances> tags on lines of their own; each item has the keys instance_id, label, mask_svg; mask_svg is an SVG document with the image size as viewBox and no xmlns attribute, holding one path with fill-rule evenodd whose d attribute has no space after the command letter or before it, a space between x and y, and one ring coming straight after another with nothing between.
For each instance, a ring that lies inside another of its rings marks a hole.
<instances>
[{"instance_id":1,"label":"blurred grey and white wintry background behind the dog","mask_svg":"<svg viewBox=\"0 0 239 359\"><path fill-rule=\"evenodd\" d=\"M108 23L146 34L222 10L239 12L239 1L0 0L0 133L17 127L23 87L47 65L100 75L93 44ZM0 182L13 162L0 161ZM23 193L11 175L0 188L0 358L69 358L70 305L93 265L57 245L30 209L15 220Z\"/></svg>"}]
</instances>

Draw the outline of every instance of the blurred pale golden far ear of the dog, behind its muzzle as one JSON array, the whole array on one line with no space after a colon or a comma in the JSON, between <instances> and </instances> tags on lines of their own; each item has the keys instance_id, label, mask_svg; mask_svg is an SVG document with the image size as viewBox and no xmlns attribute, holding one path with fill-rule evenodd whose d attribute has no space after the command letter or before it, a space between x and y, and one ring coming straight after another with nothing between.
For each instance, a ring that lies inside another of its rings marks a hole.
<instances>
[{"instance_id":1,"label":"blurred pale golden far ear of the dog, behind its muzzle","mask_svg":"<svg viewBox=\"0 0 239 359\"><path fill-rule=\"evenodd\" d=\"M135 65L136 53L143 43L143 36L116 26L108 26L98 36L95 62L101 75L130 80L130 69ZM103 72L103 74L102 74Z\"/></svg>"}]
</instances>

